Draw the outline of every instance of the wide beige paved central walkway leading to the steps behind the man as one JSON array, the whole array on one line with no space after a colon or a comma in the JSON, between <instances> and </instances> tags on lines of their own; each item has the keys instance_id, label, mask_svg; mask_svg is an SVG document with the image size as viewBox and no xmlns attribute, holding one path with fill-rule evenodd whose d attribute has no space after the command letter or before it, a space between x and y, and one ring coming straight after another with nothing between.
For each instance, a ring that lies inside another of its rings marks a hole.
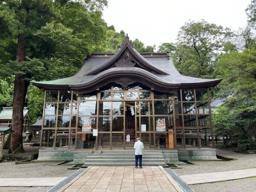
<instances>
[{"instance_id":1,"label":"wide beige paved central walkway leading to the steps behind the man","mask_svg":"<svg viewBox=\"0 0 256 192\"><path fill-rule=\"evenodd\" d=\"M162 166L88 167L58 192L183 192Z\"/></svg>"}]
</instances>

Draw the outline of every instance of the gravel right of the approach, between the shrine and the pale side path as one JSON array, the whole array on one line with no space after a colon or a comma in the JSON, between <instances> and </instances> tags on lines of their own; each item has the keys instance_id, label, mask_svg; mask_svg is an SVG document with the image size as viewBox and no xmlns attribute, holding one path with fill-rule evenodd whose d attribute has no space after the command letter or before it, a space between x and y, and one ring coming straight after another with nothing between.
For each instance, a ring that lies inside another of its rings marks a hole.
<instances>
[{"instance_id":1,"label":"gravel right of the approach, between the shrine and the pale side path","mask_svg":"<svg viewBox=\"0 0 256 192\"><path fill-rule=\"evenodd\" d=\"M232 161L192 161L197 165L180 166L182 169L172 169L177 175L190 175L210 172L224 172L256 167L256 154L242 154L234 151L216 149L216 154L235 158Z\"/></svg>"}]
</instances>

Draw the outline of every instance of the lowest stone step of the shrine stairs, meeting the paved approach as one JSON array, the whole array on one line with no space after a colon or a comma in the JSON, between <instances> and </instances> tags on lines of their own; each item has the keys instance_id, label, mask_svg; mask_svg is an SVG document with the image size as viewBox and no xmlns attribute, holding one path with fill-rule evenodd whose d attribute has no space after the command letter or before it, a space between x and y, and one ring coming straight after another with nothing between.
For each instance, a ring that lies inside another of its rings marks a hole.
<instances>
[{"instance_id":1,"label":"lowest stone step of the shrine stairs, meeting the paved approach","mask_svg":"<svg viewBox=\"0 0 256 192\"><path fill-rule=\"evenodd\" d=\"M81 168L85 168L88 166L134 166L135 162L133 163L84 163ZM142 163L142 166L163 166L167 167L166 163Z\"/></svg>"}]
</instances>

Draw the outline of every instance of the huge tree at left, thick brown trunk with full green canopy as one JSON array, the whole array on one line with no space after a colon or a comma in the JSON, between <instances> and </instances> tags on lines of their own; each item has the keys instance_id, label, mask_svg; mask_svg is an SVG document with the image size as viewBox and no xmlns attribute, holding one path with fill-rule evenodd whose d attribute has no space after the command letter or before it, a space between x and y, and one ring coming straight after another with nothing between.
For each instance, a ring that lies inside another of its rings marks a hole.
<instances>
[{"instance_id":1,"label":"huge tree at left, thick brown trunk with full green canopy","mask_svg":"<svg viewBox=\"0 0 256 192\"><path fill-rule=\"evenodd\" d=\"M4 46L12 50L6 53L10 58L8 63L0 59L0 72L6 76L15 75L12 119L15 132L12 134L10 152L23 151L23 107L29 81L35 77L43 79L45 70L46 74L50 74L56 71L57 66L58 74L65 73L70 65L78 67L77 63L82 63L84 54L96 49L90 49L90 43L96 47L102 44L104 21L100 10L105 5L105 0L0 1L0 38ZM58 32L61 34L57 35ZM65 57L65 54L70 57ZM75 70L71 70L71 73L75 73ZM56 74L53 76L58 78Z\"/></svg>"}]
</instances>

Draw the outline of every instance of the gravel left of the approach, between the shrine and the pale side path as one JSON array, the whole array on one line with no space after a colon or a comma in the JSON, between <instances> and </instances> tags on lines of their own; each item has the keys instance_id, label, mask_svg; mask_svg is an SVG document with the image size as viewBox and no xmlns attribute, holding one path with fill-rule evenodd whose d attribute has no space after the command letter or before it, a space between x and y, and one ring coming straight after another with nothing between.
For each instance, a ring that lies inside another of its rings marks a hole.
<instances>
[{"instance_id":1,"label":"gravel left of the approach, between the shrine and the pale side path","mask_svg":"<svg viewBox=\"0 0 256 192\"><path fill-rule=\"evenodd\" d=\"M67 169L68 166L52 166L56 163L26 163L15 165L15 162L0 163L0 178L23 177L67 177L75 169Z\"/></svg>"}]
</instances>

